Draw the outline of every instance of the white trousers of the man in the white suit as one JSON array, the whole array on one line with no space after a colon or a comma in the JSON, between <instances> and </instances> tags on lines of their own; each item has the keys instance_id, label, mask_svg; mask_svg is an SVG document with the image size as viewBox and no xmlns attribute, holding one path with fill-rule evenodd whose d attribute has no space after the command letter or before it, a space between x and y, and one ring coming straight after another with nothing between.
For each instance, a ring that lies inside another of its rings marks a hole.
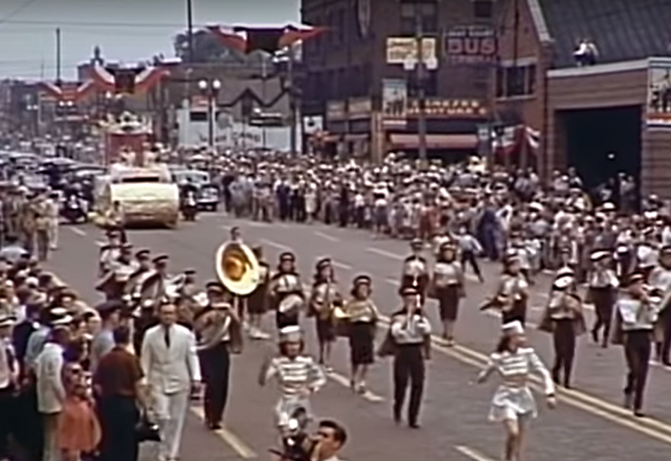
<instances>
[{"instance_id":1,"label":"white trousers of the man in the white suit","mask_svg":"<svg viewBox=\"0 0 671 461\"><path fill-rule=\"evenodd\" d=\"M176 460L180 456L189 392L176 394L156 392L153 397L154 414L158 420L161 436L158 456L162 460Z\"/></svg>"}]
</instances>

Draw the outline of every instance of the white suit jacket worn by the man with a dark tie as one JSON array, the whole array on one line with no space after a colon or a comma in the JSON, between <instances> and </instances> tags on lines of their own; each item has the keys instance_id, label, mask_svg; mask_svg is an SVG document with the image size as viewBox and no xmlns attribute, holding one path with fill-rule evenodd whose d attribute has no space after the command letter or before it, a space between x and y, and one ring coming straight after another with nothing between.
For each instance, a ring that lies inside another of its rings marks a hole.
<instances>
[{"instance_id":1,"label":"white suit jacket worn by the man with a dark tie","mask_svg":"<svg viewBox=\"0 0 671 461\"><path fill-rule=\"evenodd\" d=\"M142 342L141 364L151 392L188 392L192 381L200 381L196 340L182 325L170 327L170 348L165 344L165 329L157 325L147 330Z\"/></svg>"}]
</instances>

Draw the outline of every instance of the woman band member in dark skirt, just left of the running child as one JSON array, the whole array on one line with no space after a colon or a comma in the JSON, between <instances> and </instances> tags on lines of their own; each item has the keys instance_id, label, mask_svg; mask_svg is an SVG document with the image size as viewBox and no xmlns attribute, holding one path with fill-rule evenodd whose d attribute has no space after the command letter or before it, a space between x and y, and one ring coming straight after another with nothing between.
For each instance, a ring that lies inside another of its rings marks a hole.
<instances>
[{"instance_id":1,"label":"woman band member in dark skirt, just left of the running child","mask_svg":"<svg viewBox=\"0 0 671 461\"><path fill-rule=\"evenodd\" d=\"M438 300L443 322L443 338L448 346L454 345L454 323L459 311L459 300L465 297L463 266L456 260L456 246L444 241L431 277L431 291Z\"/></svg>"}]
</instances>

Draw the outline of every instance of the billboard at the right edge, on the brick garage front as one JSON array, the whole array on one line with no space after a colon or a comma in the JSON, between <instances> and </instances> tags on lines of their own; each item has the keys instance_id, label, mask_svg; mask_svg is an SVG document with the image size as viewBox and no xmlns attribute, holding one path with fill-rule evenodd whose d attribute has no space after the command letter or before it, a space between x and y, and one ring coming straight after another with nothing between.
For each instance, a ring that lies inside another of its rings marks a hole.
<instances>
[{"instance_id":1,"label":"billboard at the right edge, on the brick garage front","mask_svg":"<svg viewBox=\"0 0 671 461\"><path fill-rule=\"evenodd\" d=\"M671 127L671 60L650 60L646 121Z\"/></svg>"}]
</instances>

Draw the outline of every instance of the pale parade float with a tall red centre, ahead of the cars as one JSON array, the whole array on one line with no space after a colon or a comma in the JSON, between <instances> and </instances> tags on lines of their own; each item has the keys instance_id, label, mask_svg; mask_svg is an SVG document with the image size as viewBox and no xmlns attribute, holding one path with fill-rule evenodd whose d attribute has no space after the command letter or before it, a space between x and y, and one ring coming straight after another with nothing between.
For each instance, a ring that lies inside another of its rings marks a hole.
<instances>
[{"instance_id":1,"label":"pale parade float with a tall red centre, ahead of the cars","mask_svg":"<svg viewBox=\"0 0 671 461\"><path fill-rule=\"evenodd\" d=\"M125 113L106 128L108 174L99 176L95 184L97 221L109 224L118 202L125 226L176 226L180 215L179 188L158 152L148 148L148 124Z\"/></svg>"}]
</instances>

